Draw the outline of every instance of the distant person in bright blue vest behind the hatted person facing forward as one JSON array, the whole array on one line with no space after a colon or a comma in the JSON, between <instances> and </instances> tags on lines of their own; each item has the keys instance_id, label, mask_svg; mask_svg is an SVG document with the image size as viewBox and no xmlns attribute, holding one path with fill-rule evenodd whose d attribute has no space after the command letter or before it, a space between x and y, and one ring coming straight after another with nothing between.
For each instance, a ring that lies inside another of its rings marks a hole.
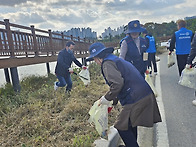
<instances>
[{"instance_id":1,"label":"distant person in bright blue vest behind the hatted person facing forward","mask_svg":"<svg viewBox=\"0 0 196 147\"><path fill-rule=\"evenodd\" d=\"M153 64L154 75L157 75L157 63L155 59L155 55L156 55L155 38L150 33L148 33L147 30L143 31L143 35L145 36L145 39L147 41L147 46L148 46L146 52L148 53L148 68L151 68L150 75L152 73L152 64Z\"/></svg>"}]
</instances>

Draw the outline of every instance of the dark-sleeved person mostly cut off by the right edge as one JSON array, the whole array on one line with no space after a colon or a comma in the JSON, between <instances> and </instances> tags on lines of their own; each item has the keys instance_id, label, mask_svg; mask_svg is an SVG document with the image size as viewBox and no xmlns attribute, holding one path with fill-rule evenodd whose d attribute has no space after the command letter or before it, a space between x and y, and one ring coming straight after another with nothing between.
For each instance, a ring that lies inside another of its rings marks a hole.
<instances>
[{"instance_id":1,"label":"dark-sleeved person mostly cut off by the right edge","mask_svg":"<svg viewBox=\"0 0 196 147\"><path fill-rule=\"evenodd\" d=\"M186 68L192 68L193 66L193 60L194 58L196 57L196 34L194 35L194 38L193 38L193 41L192 41L192 44L191 44L191 52L188 56L188 59L187 59L187 64L186 64ZM196 106L196 91L195 91L195 100L192 101L193 105Z\"/></svg>"}]
</instances>

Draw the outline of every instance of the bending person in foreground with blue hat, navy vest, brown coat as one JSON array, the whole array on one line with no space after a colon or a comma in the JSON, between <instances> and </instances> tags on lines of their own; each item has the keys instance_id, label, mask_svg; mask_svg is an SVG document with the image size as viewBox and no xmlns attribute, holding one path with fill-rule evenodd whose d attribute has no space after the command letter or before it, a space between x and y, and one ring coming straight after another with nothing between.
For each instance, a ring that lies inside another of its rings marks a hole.
<instances>
[{"instance_id":1,"label":"bending person in foreground with blue hat, navy vest, brown coat","mask_svg":"<svg viewBox=\"0 0 196 147\"><path fill-rule=\"evenodd\" d=\"M161 122L155 95L139 71L128 61L113 55L114 48L97 42L89 47L87 61L101 66L109 90L99 100L100 105L113 105L119 100L122 110L114 127L127 147L138 147L137 126L153 127Z\"/></svg>"}]
</instances>

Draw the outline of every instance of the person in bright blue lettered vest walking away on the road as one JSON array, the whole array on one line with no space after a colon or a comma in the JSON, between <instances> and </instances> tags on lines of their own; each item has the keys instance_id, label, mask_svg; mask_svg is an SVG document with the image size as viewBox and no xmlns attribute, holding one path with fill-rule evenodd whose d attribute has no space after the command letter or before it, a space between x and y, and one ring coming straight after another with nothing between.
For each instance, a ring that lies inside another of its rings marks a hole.
<instances>
[{"instance_id":1,"label":"person in bright blue lettered vest walking away on the road","mask_svg":"<svg viewBox=\"0 0 196 147\"><path fill-rule=\"evenodd\" d=\"M178 31L176 31L173 34L169 47L169 54L171 54L174 51L174 49L176 49L179 75L181 75L182 70L186 66L187 57L191 50L191 40L193 38L193 32L191 30L186 29L185 27L186 21L177 21Z\"/></svg>"}]
</instances>

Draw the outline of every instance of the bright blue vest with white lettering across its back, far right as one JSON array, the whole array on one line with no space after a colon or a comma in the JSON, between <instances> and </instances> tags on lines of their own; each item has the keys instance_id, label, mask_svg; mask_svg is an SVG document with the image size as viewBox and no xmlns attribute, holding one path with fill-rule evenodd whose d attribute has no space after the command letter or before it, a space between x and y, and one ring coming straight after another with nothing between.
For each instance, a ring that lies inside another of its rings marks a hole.
<instances>
[{"instance_id":1,"label":"bright blue vest with white lettering across its back, far right","mask_svg":"<svg viewBox=\"0 0 196 147\"><path fill-rule=\"evenodd\" d=\"M180 30L175 32L177 55L184 55L190 53L192 35L193 32L186 28L181 28Z\"/></svg>"}]
</instances>

